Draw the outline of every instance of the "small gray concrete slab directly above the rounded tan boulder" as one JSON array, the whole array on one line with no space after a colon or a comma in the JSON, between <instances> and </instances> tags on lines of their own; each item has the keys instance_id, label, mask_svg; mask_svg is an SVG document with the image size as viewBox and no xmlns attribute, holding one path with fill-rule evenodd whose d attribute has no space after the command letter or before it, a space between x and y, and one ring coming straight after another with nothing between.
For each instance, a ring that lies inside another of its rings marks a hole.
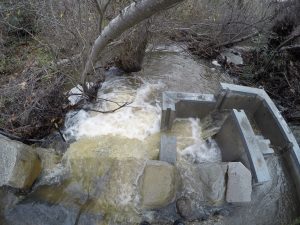
<instances>
[{"instance_id":1,"label":"small gray concrete slab directly above the rounded tan boulder","mask_svg":"<svg viewBox=\"0 0 300 225\"><path fill-rule=\"evenodd\" d=\"M160 138L159 160L175 164L177 158L176 137L162 134Z\"/></svg>"}]
</instances>

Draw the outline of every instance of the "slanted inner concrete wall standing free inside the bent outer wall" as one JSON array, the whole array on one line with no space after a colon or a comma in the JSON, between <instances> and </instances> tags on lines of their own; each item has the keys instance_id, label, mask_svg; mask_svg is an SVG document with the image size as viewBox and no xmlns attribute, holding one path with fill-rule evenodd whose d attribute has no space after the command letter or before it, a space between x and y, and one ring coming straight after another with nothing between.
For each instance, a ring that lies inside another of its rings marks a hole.
<instances>
[{"instance_id":1,"label":"slanted inner concrete wall standing free inside the bent outer wall","mask_svg":"<svg viewBox=\"0 0 300 225\"><path fill-rule=\"evenodd\" d=\"M232 110L215 139L221 147L223 161L242 162L251 170L256 183L271 180L259 140L243 110Z\"/></svg>"}]
</instances>

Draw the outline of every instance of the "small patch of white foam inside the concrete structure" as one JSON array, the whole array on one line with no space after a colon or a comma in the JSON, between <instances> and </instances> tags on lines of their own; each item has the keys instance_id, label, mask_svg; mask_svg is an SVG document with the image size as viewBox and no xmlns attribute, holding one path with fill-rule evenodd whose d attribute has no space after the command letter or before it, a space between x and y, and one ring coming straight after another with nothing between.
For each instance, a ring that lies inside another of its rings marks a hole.
<instances>
[{"instance_id":1,"label":"small patch of white foam inside the concrete structure","mask_svg":"<svg viewBox=\"0 0 300 225\"><path fill-rule=\"evenodd\" d=\"M205 141L201 138L201 126L199 119L190 118L192 127L192 137L194 144L186 147L181 155L193 162L220 162L222 160L221 151L214 140Z\"/></svg>"}]
</instances>

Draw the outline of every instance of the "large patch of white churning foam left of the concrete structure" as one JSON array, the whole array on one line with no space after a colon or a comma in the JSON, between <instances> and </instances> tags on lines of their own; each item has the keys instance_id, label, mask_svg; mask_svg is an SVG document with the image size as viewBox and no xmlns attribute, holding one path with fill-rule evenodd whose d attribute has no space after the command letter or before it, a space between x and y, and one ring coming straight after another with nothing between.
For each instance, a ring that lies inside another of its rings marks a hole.
<instances>
[{"instance_id":1,"label":"large patch of white churning foam left of the concrete structure","mask_svg":"<svg viewBox=\"0 0 300 225\"><path fill-rule=\"evenodd\" d=\"M78 140L83 136L119 135L127 138L143 140L160 131L161 108L158 104L150 104L151 95L157 92L162 84L143 84L137 90L121 87L102 90L100 97L116 101L132 103L113 113L90 113L80 110L69 113L65 123L67 139ZM95 106L97 110L107 111L119 106L110 101L103 101Z\"/></svg>"}]
</instances>

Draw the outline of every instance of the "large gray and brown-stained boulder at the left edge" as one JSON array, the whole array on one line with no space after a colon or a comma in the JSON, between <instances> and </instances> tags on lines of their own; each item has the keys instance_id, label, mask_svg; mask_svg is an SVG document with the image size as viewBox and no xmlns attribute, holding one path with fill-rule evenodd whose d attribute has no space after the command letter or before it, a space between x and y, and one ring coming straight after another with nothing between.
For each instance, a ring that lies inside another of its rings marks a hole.
<instances>
[{"instance_id":1,"label":"large gray and brown-stained boulder at the left edge","mask_svg":"<svg viewBox=\"0 0 300 225\"><path fill-rule=\"evenodd\" d=\"M31 147L0 137L0 187L28 189L40 172L40 159Z\"/></svg>"}]
</instances>

